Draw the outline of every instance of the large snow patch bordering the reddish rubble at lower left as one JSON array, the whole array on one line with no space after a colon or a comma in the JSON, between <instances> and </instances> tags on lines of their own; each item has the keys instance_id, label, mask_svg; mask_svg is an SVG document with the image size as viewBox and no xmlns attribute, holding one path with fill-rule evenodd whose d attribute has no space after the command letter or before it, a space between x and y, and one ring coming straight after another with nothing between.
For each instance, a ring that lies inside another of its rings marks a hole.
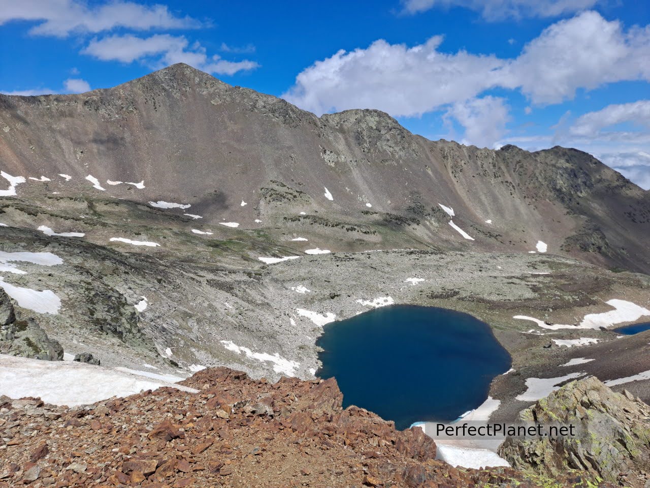
<instances>
[{"instance_id":1,"label":"large snow patch bordering the reddish rubble at lower left","mask_svg":"<svg viewBox=\"0 0 650 488\"><path fill-rule=\"evenodd\" d=\"M112 396L155 390L161 386L198 392L168 381L153 381L142 375L83 362L42 361L0 355L0 394L10 398L33 396L54 405L74 407Z\"/></svg>"}]
</instances>

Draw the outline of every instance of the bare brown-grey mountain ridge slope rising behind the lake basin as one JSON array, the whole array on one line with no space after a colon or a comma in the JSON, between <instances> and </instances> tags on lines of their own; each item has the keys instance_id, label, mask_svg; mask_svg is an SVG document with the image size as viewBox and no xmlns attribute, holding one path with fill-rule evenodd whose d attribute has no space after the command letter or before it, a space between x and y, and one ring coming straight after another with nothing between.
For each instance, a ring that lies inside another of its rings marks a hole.
<instances>
[{"instance_id":1,"label":"bare brown-grey mountain ridge slope rising behind the lake basin","mask_svg":"<svg viewBox=\"0 0 650 488\"><path fill-rule=\"evenodd\" d=\"M307 232L332 251L530 252L541 241L650 272L648 192L577 150L432 142L379 111L318 118L185 64L86 94L0 96L0 129L2 169L51 180L27 180L19 195L191 205L201 224L239 223L275 241Z\"/></svg>"}]
</instances>

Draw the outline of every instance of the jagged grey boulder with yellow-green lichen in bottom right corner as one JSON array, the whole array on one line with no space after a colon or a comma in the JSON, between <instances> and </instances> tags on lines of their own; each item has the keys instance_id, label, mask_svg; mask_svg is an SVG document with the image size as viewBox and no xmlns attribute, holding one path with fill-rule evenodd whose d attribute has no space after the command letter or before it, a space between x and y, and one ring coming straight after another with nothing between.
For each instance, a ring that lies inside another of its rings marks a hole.
<instances>
[{"instance_id":1,"label":"jagged grey boulder with yellow-green lichen in bottom right corner","mask_svg":"<svg viewBox=\"0 0 650 488\"><path fill-rule=\"evenodd\" d=\"M650 407L629 392L613 392L596 377L572 381L521 411L521 420L575 426L575 437L508 437L499 455L513 468L553 478L586 471L593 481L643 487L650 483Z\"/></svg>"}]
</instances>

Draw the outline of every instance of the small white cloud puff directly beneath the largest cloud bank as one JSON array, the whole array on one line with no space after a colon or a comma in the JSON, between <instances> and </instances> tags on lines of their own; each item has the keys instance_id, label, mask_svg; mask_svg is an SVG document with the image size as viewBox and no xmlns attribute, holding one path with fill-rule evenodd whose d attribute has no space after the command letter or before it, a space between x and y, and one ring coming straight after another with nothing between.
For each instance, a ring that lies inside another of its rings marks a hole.
<instances>
[{"instance_id":1,"label":"small white cloud puff directly beneath the largest cloud bank","mask_svg":"<svg viewBox=\"0 0 650 488\"><path fill-rule=\"evenodd\" d=\"M489 148L505 135L510 119L505 99L493 96L454 103L445 117L453 117L465 129L462 144Z\"/></svg>"}]
</instances>

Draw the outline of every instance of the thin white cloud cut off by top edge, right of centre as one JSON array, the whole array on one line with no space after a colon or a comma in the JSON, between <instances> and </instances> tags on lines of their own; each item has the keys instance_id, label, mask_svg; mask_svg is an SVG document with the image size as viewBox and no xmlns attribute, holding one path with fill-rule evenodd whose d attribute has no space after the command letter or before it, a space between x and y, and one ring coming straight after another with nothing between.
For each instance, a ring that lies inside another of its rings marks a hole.
<instances>
[{"instance_id":1,"label":"thin white cloud cut off by top edge, right of centre","mask_svg":"<svg viewBox=\"0 0 650 488\"><path fill-rule=\"evenodd\" d=\"M575 14L599 0L402 0L404 12L417 14L434 7L464 7L480 12L487 20L505 18L557 17Z\"/></svg>"}]
</instances>

